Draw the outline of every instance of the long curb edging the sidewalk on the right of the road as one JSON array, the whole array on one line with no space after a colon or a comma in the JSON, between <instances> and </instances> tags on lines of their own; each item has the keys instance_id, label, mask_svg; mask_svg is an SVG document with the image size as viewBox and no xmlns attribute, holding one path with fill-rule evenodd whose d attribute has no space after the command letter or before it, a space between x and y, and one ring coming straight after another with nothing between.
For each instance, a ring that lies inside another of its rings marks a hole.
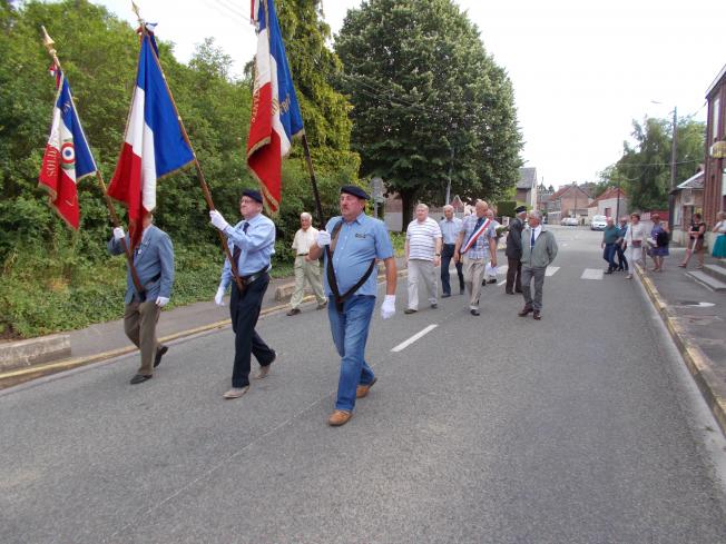
<instances>
[{"instance_id":1,"label":"long curb edging the sidewalk on the right of the road","mask_svg":"<svg viewBox=\"0 0 726 544\"><path fill-rule=\"evenodd\" d=\"M680 352L681 357L686 362L688 372L694 377L696 385L698 385L698 389L700 389L702 395L706 399L722 433L726 435L726 385L722 384L718 379L709 358L683 329L680 323L678 323L678 318L673 315L653 280L646 276L640 267L636 267L636 269L648 297L678 347L678 352Z\"/></svg>"}]
</instances>

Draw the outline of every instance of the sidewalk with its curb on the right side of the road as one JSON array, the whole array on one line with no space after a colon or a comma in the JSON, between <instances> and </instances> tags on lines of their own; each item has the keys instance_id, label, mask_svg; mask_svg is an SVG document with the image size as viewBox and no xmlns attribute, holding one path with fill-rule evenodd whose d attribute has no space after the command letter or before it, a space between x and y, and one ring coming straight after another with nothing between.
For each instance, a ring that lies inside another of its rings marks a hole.
<instances>
[{"instance_id":1,"label":"sidewalk with its curb on the right side of the road","mask_svg":"<svg viewBox=\"0 0 726 544\"><path fill-rule=\"evenodd\" d=\"M685 249L671 247L665 271L639 270L650 300L678 346L690 374L726 434L726 293L707 289L679 268ZM706 264L716 264L710 256ZM688 270L696 267L691 258Z\"/></svg>"}]
</instances>

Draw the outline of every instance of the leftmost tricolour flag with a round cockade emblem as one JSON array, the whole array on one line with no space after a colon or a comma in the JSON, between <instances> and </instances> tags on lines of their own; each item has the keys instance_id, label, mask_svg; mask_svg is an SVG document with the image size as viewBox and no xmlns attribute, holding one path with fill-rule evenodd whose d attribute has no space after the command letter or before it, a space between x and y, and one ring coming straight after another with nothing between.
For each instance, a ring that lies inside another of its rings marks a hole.
<instances>
[{"instance_id":1,"label":"leftmost tricolour flag with a round cockade emblem","mask_svg":"<svg viewBox=\"0 0 726 544\"><path fill-rule=\"evenodd\" d=\"M58 92L38 181L48 190L50 204L58 215L78 230L80 210L76 184L81 178L96 174L96 161L76 113L66 76L55 65L51 75L56 78Z\"/></svg>"}]
</instances>

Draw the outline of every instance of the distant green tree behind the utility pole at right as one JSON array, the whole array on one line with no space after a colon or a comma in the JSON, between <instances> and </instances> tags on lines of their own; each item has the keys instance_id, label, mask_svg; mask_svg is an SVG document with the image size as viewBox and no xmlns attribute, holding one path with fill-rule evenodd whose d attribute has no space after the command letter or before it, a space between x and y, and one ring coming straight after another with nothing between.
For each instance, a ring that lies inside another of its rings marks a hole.
<instances>
[{"instance_id":1,"label":"distant green tree behind the utility pole at right","mask_svg":"<svg viewBox=\"0 0 726 544\"><path fill-rule=\"evenodd\" d=\"M673 122L646 117L634 120L631 137L625 141L618 162L600 175L600 184L620 185L628 194L631 209L664 209L670 191ZM677 127L676 182L689 178L704 157L705 126L689 118Z\"/></svg>"}]
</instances>

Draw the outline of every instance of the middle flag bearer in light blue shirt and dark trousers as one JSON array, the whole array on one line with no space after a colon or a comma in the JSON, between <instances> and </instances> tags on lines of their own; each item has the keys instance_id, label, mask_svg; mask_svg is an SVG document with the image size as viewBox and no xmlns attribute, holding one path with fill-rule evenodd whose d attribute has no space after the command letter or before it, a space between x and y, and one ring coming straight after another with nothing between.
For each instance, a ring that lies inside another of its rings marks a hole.
<instances>
[{"instance_id":1,"label":"middle flag bearer in light blue shirt and dark trousers","mask_svg":"<svg viewBox=\"0 0 726 544\"><path fill-rule=\"evenodd\" d=\"M262 195L256 190L245 190L239 200L239 212L244 218L232 227L217 210L209 211L212 224L227 237L232 259L243 284L242 290L233 281L232 266L225 260L222 268L219 288L214 301L224 306L224 294L232 284L229 315L235 334L235 360L232 373L232 388L224 398L239 398L249 389L251 358L259 362L257 378L269 373L277 354L255 332L262 299L269 284L269 259L275 253L275 224L262 215Z\"/></svg>"}]
</instances>

